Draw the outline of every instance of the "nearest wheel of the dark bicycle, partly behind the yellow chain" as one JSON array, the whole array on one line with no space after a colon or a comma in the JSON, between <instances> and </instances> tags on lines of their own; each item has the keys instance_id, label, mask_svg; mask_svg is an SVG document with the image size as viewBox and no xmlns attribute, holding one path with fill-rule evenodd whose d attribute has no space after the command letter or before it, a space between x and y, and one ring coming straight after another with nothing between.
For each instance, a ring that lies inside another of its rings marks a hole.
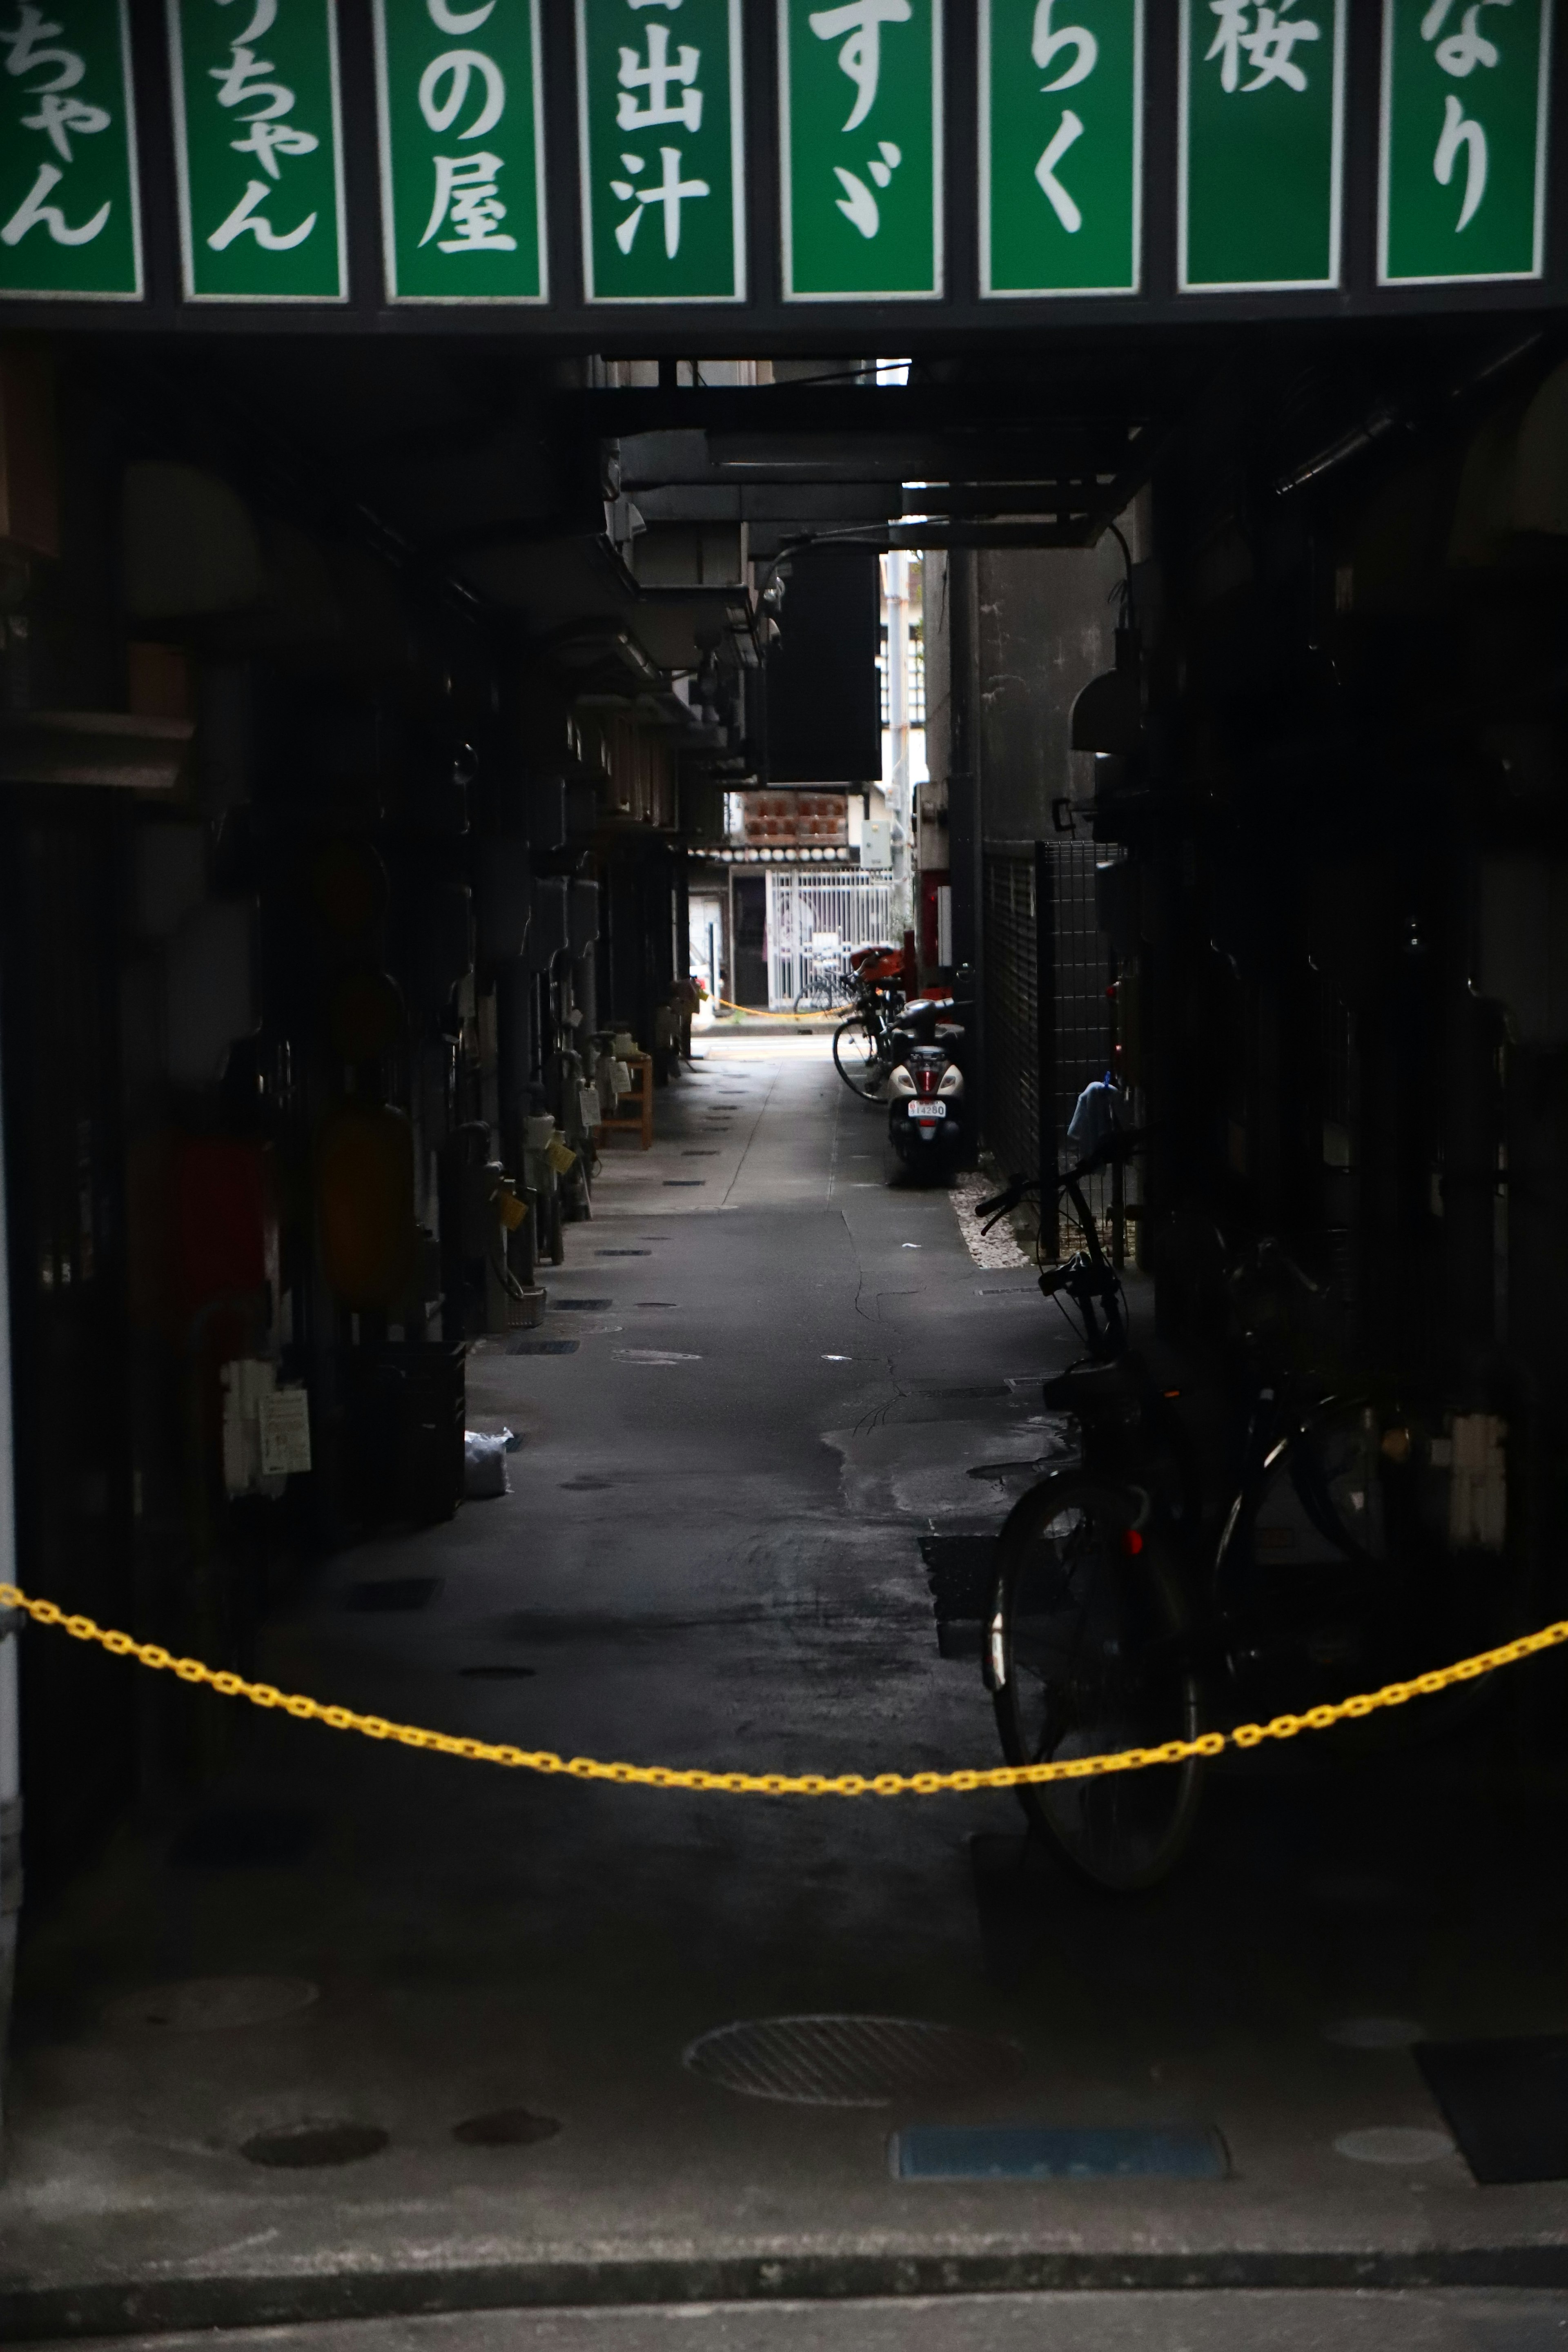
<instances>
[{"instance_id":1,"label":"nearest wheel of the dark bicycle, partly behind the yellow chain","mask_svg":"<svg viewBox=\"0 0 1568 2352\"><path fill-rule=\"evenodd\" d=\"M1185 1609L1157 1541L1133 1529L1140 1501L1067 1470L1025 1494L1001 1529L990 1679L1009 1764L1197 1738ZM1135 1893L1180 1860L1201 1778L1190 1759L1027 1785L1018 1799L1072 1870Z\"/></svg>"}]
</instances>

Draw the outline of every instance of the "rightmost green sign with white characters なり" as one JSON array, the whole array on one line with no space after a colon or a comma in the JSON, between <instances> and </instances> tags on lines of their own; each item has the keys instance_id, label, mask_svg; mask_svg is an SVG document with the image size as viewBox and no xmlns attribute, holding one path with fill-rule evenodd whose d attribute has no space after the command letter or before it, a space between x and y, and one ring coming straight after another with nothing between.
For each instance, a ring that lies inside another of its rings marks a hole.
<instances>
[{"instance_id":1,"label":"rightmost green sign with white characters \u306a\u308a","mask_svg":"<svg viewBox=\"0 0 1568 2352\"><path fill-rule=\"evenodd\" d=\"M1382 285L1540 278L1547 0L1385 0Z\"/></svg>"}]
</instances>

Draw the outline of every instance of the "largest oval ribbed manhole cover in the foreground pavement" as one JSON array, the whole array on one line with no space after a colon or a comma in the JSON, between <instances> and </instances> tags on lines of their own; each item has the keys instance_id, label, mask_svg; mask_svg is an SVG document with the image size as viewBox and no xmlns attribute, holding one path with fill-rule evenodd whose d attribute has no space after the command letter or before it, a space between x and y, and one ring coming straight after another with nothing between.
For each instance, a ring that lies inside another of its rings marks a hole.
<instances>
[{"instance_id":1,"label":"largest oval ribbed manhole cover in the foreground pavement","mask_svg":"<svg viewBox=\"0 0 1568 2352\"><path fill-rule=\"evenodd\" d=\"M719 2025L684 2053L705 2082L795 2107L886 2107L1018 2070L1016 2042L917 2018L755 2018Z\"/></svg>"}]
</instances>

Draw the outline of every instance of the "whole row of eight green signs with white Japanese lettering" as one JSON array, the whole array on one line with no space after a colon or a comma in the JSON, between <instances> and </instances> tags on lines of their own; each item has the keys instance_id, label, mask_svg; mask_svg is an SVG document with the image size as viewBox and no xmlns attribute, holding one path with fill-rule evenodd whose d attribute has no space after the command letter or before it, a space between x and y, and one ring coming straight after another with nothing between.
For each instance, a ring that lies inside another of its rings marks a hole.
<instances>
[{"instance_id":1,"label":"whole row of eight green signs with white Japanese lettering","mask_svg":"<svg viewBox=\"0 0 1568 2352\"><path fill-rule=\"evenodd\" d=\"M186 299L346 301L334 0L165 5ZM961 5L980 292L1135 294L1145 0ZM1182 292L1340 285L1349 5L1180 0ZM743 0L574 12L588 301L745 301ZM374 26L388 296L548 301L541 0ZM1382 0L1380 282L1540 278L1549 38ZM776 0L776 68L785 299L940 299L943 0ZM0 0L0 294L141 292L129 0Z\"/></svg>"}]
</instances>

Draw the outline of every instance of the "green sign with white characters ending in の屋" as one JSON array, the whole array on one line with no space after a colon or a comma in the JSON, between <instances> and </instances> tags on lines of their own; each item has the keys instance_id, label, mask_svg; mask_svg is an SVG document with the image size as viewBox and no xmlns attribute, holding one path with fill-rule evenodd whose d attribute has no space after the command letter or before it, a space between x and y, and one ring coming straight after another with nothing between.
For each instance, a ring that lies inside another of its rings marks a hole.
<instances>
[{"instance_id":1,"label":"green sign with white characters ending in \u306e\u5c4b","mask_svg":"<svg viewBox=\"0 0 1568 2352\"><path fill-rule=\"evenodd\" d=\"M390 301L545 301L538 0L376 0Z\"/></svg>"}]
</instances>

